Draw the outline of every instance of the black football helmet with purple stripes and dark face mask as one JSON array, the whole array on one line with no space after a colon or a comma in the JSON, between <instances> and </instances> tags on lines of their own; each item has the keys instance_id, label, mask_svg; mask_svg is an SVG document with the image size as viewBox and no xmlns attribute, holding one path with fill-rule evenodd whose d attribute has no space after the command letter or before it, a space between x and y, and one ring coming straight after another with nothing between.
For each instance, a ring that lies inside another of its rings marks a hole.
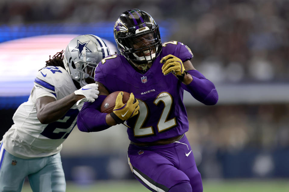
<instances>
[{"instance_id":1,"label":"black football helmet with purple stripes and dark face mask","mask_svg":"<svg viewBox=\"0 0 289 192\"><path fill-rule=\"evenodd\" d=\"M152 62L162 50L159 26L138 9L121 13L113 34L121 54L138 67Z\"/></svg>"}]
</instances>

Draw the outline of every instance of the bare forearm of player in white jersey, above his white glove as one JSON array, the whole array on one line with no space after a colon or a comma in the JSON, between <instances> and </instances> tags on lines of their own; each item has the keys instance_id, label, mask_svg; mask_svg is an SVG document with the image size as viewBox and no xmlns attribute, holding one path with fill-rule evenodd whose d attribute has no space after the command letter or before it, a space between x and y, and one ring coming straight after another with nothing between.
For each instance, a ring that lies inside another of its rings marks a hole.
<instances>
[{"instance_id":1,"label":"bare forearm of player in white jersey, above his white glove","mask_svg":"<svg viewBox=\"0 0 289 192\"><path fill-rule=\"evenodd\" d=\"M37 118L42 124L55 122L63 117L67 111L82 98L84 98L83 95L75 95L72 93L60 100L49 102L37 111Z\"/></svg>"}]
</instances>

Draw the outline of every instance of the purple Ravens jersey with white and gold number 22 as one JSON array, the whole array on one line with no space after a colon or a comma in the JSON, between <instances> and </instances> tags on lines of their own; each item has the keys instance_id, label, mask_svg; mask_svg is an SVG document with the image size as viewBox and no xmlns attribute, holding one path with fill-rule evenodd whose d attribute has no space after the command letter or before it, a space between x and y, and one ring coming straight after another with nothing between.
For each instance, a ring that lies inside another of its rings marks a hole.
<instances>
[{"instance_id":1,"label":"purple Ravens jersey with white and gold number 22","mask_svg":"<svg viewBox=\"0 0 289 192\"><path fill-rule=\"evenodd\" d=\"M160 59L175 55L182 61L192 58L191 50L181 42L163 43L161 54L144 74L136 71L123 55L110 55L96 67L95 81L111 93L133 93L139 101L139 114L128 119L129 140L135 143L154 142L188 131L188 118L183 104L183 88L172 73L163 75Z\"/></svg>"}]
</instances>

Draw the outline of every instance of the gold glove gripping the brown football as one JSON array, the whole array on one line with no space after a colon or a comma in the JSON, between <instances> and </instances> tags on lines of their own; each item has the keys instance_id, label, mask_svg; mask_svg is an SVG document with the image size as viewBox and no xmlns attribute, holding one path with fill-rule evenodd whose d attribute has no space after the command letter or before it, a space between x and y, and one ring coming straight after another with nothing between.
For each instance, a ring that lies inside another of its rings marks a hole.
<instances>
[{"instance_id":1,"label":"gold glove gripping the brown football","mask_svg":"<svg viewBox=\"0 0 289 192\"><path fill-rule=\"evenodd\" d=\"M138 110L138 100L135 99L133 93L130 94L129 100L126 104L123 104L123 91L121 91L117 95L115 107L113 108L113 112L110 113L110 116L117 122L117 124L120 124L137 115Z\"/></svg>"}]
</instances>

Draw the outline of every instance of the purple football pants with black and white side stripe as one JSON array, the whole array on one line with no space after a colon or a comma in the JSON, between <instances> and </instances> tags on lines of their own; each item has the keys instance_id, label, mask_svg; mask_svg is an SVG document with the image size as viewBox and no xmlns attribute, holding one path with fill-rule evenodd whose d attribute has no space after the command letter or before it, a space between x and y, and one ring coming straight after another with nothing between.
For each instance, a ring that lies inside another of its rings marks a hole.
<instances>
[{"instance_id":1,"label":"purple football pants with black and white side stripe","mask_svg":"<svg viewBox=\"0 0 289 192\"><path fill-rule=\"evenodd\" d=\"M167 145L139 147L130 144L129 166L138 181L151 191L168 191L182 182L202 192L202 179L186 136ZM181 191L181 190L180 190Z\"/></svg>"}]
</instances>

